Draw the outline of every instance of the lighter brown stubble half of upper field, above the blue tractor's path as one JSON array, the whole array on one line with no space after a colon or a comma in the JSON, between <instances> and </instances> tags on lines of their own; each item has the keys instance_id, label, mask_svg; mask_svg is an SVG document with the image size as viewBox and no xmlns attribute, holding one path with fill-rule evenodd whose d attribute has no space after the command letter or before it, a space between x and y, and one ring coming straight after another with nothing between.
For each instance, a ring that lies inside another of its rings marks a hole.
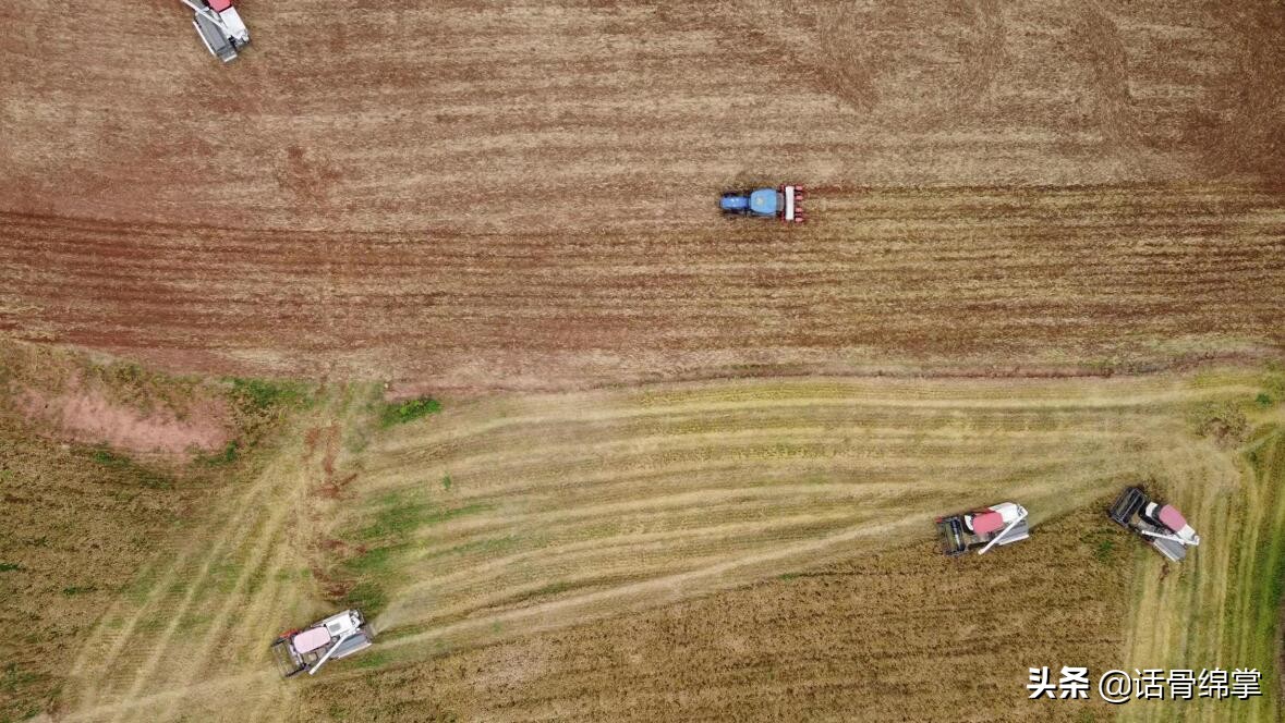
<instances>
[{"instance_id":1,"label":"lighter brown stubble half of upper field, above the blue tractor's path","mask_svg":"<svg viewBox=\"0 0 1285 723\"><path fill-rule=\"evenodd\" d=\"M1285 153L1270 0L317 0L247 19L253 48L220 67L180 8L0 6L5 27L41 28L0 48L0 208L293 231L691 229L717 186L765 173L1279 181Z\"/></svg>"}]
</instances>

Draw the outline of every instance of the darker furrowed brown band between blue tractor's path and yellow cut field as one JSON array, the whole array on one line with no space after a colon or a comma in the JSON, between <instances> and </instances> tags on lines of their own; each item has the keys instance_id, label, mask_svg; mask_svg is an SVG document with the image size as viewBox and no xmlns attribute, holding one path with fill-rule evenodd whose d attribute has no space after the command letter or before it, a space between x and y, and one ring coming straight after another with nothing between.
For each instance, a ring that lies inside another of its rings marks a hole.
<instances>
[{"instance_id":1,"label":"darker furrowed brown band between blue tractor's path and yellow cut field","mask_svg":"<svg viewBox=\"0 0 1285 723\"><path fill-rule=\"evenodd\" d=\"M1285 196L839 191L816 223L460 235L0 217L24 335L418 388L969 367L1103 371L1285 344Z\"/></svg>"}]
</instances>

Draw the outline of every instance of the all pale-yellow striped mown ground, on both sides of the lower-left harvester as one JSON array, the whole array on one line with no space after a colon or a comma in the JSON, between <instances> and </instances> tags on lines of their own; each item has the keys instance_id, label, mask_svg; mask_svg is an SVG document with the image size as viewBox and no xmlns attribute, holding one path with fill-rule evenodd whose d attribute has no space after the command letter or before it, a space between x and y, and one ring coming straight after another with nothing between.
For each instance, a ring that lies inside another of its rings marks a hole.
<instances>
[{"instance_id":1,"label":"all pale-yellow striped mown ground, on both sides of the lower-left harvester","mask_svg":"<svg viewBox=\"0 0 1285 723\"><path fill-rule=\"evenodd\" d=\"M934 515L974 505L1022 501L1038 544L1041 523L1139 476L1180 493L1234 479L1192 414L1259 390L1231 374L510 394L447 399L360 453L338 444L348 412L319 410L108 611L68 718L288 713L310 683L275 683L266 643L326 610L297 578L317 510L348 514L311 556L379 610L377 650L326 675L362 675L926 539ZM335 469L357 475L343 503L310 497Z\"/></svg>"}]
</instances>

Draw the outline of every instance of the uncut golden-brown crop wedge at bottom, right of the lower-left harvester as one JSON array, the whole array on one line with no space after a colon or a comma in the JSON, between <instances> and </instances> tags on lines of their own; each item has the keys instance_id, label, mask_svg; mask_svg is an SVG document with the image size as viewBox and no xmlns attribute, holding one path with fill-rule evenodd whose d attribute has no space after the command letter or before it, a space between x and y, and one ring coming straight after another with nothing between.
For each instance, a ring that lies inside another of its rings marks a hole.
<instances>
[{"instance_id":1,"label":"uncut golden-brown crop wedge at bottom, right of the lower-left harvester","mask_svg":"<svg viewBox=\"0 0 1285 723\"><path fill-rule=\"evenodd\" d=\"M928 543L898 546L346 677L308 696L303 717L883 722L968 710L968 720L1109 719L1100 701L1024 700L1028 665L1118 664L1132 566L1097 553L1108 525L1082 510L1041 525L1028 544L961 560ZM1049 574L1050 560L1060 574Z\"/></svg>"}]
</instances>

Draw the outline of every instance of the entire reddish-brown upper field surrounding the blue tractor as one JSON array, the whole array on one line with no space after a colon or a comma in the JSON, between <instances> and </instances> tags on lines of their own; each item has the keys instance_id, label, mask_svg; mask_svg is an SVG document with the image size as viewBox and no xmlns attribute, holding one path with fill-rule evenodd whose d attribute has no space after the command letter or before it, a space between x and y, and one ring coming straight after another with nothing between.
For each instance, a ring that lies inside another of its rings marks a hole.
<instances>
[{"instance_id":1,"label":"entire reddish-brown upper field surrounding the blue tractor","mask_svg":"<svg viewBox=\"0 0 1285 723\"><path fill-rule=\"evenodd\" d=\"M0 329L436 389L1285 344L1279 4L185 14L0 8Z\"/></svg>"}]
</instances>

